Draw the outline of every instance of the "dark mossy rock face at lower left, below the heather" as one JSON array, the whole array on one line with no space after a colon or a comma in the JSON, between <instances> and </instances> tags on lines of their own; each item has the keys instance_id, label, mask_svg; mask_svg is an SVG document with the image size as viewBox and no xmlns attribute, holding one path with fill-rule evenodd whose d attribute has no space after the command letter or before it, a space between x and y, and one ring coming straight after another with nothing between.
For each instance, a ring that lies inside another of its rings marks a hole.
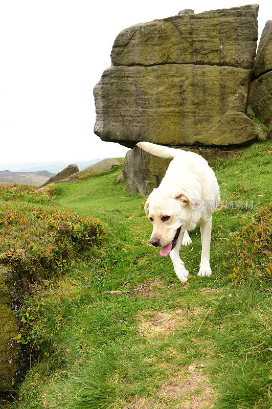
<instances>
[{"instance_id":1,"label":"dark mossy rock face at lower left, below the heather","mask_svg":"<svg viewBox=\"0 0 272 409\"><path fill-rule=\"evenodd\" d=\"M0 393L11 391L19 380L24 365L21 350L12 339L19 333L16 317L20 287L18 278L0 266Z\"/></svg>"}]
</instances>

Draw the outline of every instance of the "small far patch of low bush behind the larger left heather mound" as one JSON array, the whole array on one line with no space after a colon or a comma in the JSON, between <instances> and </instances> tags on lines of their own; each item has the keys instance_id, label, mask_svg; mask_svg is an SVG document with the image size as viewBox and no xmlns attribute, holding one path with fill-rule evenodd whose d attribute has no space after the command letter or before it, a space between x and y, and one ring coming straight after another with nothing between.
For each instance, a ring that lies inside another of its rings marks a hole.
<instances>
[{"instance_id":1,"label":"small far patch of low bush behind the larger left heather mound","mask_svg":"<svg viewBox=\"0 0 272 409\"><path fill-rule=\"evenodd\" d=\"M0 200L25 200L31 203L49 203L52 202L47 192L36 190L32 186L10 183L0 185Z\"/></svg>"}]
</instances>

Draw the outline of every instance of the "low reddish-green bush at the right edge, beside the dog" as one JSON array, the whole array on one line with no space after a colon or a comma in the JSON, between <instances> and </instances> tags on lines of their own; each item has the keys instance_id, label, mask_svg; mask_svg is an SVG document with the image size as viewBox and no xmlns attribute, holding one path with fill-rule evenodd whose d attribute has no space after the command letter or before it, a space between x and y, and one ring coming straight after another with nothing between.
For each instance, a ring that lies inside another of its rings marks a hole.
<instances>
[{"instance_id":1,"label":"low reddish-green bush at the right edge, beside the dog","mask_svg":"<svg viewBox=\"0 0 272 409\"><path fill-rule=\"evenodd\" d=\"M272 202L261 208L253 220L230 244L226 265L237 281L272 278Z\"/></svg>"}]
</instances>

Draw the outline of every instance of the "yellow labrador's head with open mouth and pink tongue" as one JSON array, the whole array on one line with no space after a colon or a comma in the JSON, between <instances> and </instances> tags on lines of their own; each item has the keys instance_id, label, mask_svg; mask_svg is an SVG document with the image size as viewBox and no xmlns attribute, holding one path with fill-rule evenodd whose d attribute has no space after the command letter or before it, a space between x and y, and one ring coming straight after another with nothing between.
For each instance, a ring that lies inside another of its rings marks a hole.
<instances>
[{"instance_id":1,"label":"yellow labrador's head with open mouth and pink tongue","mask_svg":"<svg viewBox=\"0 0 272 409\"><path fill-rule=\"evenodd\" d=\"M153 224L150 242L162 247L167 256L176 245L180 231L189 229L192 221L192 203L185 190L162 194L154 189L145 203L145 213Z\"/></svg>"}]
</instances>

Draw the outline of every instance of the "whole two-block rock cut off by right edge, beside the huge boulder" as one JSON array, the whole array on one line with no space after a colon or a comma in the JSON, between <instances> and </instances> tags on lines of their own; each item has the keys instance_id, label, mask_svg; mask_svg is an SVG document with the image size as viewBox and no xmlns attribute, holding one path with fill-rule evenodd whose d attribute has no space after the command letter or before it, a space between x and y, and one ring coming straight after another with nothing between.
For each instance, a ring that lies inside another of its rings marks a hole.
<instances>
[{"instance_id":1,"label":"whole two-block rock cut off by right edge, beside the huge boulder","mask_svg":"<svg viewBox=\"0 0 272 409\"><path fill-rule=\"evenodd\" d=\"M249 105L272 139L272 20L263 29L254 65Z\"/></svg>"}]
</instances>

